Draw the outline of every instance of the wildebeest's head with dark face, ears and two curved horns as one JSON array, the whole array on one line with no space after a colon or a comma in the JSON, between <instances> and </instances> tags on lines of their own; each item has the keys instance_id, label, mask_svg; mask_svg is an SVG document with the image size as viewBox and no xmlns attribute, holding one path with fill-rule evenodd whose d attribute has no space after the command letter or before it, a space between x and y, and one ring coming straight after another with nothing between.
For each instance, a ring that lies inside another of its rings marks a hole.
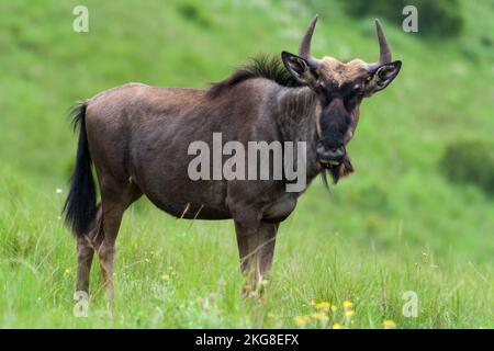
<instances>
[{"instance_id":1,"label":"wildebeest's head with dark face, ears and two curved horns","mask_svg":"<svg viewBox=\"0 0 494 351\"><path fill-rule=\"evenodd\" d=\"M328 56L316 59L311 56L311 39L316 22L317 15L308 25L299 55L283 52L281 58L290 73L319 98L322 109L316 122L319 137L316 154L318 161L329 168L335 178L335 172L345 167L347 172L352 171L346 156L346 145L357 127L362 99L386 88L397 76L402 63L391 60L391 50L378 20L375 26L380 58L377 63L367 64L361 59L341 63Z\"/></svg>"}]
</instances>

